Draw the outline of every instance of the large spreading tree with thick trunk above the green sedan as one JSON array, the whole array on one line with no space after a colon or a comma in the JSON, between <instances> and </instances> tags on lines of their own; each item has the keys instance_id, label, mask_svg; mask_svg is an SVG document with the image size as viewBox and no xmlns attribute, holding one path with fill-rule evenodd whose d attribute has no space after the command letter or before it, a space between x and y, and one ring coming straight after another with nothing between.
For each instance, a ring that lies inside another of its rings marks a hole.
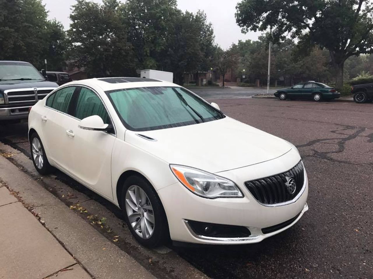
<instances>
[{"instance_id":1,"label":"large spreading tree with thick trunk above the green sedan","mask_svg":"<svg viewBox=\"0 0 373 279\"><path fill-rule=\"evenodd\" d=\"M373 53L372 7L368 0L241 0L236 22L242 32L272 27L275 42L290 34L308 53L314 45L327 49L337 86L342 87L347 58Z\"/></svg>"}]
</instances>

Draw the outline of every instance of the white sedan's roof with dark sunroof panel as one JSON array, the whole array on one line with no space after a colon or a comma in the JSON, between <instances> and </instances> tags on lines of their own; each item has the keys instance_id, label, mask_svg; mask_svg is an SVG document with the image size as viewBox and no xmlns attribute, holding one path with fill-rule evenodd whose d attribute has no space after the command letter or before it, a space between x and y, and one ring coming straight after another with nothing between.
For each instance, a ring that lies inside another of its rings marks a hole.
<instances>
[{"instance_id":1,"label":"white sedan's roof with dark sunroof panel","mask_svg":"<svg viewBox=\"0 0 373 279\"><path fill-rule=\"evenodd\" d=\"M156 87L156 86L175 86L180 87L178 84L168 81L155 80L150 78L140 77L110 77L110 78L90 78L86 80L76 80L66 85L80 84L85 86L98 86L103 91L129 89L138 87Z\"/></svg>"}]
</instances>

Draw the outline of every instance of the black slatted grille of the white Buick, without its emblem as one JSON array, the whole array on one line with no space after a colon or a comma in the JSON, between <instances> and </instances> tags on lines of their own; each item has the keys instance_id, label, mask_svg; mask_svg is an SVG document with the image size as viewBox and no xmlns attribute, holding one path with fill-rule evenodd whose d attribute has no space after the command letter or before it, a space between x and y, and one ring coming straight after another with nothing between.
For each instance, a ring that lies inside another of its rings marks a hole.
<instances>
[{"instance_id":1,"label":"black slatted grille of the white Buick, without its emblem","mask_svg":"<svg viewBox=\"0 0 373 279\"><path fill-rule=\"evenodd\" d=\"M291 194L287 187L289 179L295 180L295 192ZM245 186L254 198L263 204L275 204L294 199L303 188L304 168L300 161L291 170L257 180L245 182Z\"/></svg>"}]
</instances>

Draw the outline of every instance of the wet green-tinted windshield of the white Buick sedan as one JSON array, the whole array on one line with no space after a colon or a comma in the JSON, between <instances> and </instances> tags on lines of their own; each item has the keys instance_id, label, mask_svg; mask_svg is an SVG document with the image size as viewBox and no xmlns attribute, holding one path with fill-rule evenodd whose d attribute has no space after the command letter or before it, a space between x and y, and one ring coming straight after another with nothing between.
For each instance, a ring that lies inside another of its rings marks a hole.
<instances>
[{"instance_id":1,"label":"wet green-tinted windshield of the white Buick sedan","mask_svg":"<svg viewBox=\"0 0 373 279\"><path fill-rule=\"evenodd\" d=\"M140 87L106 93L123 124L133 131L186 126L225 117L180 87Z\"/></svg>"}]
</instances>

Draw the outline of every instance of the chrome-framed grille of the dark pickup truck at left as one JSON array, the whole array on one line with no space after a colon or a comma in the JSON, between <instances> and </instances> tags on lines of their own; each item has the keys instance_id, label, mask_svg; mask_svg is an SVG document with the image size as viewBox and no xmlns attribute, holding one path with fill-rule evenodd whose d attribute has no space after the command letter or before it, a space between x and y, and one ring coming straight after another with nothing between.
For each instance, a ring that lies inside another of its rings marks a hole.
<instances>
[{"instance_id":1,"label":"chrome-framed grille of the dark pickup truck at left","mask_svg":"<svg viewBox=\"0 0 373 279\"><path fill-rule=\"evenodd\" d=\"M6 90L5 98L9 104L36 103L38 100L42 100L47 96L52 90L54 90L54 88L40 88L36 92L34 91L34 88L26 88L22 91Z\"/></svg>"}]
</instances>

